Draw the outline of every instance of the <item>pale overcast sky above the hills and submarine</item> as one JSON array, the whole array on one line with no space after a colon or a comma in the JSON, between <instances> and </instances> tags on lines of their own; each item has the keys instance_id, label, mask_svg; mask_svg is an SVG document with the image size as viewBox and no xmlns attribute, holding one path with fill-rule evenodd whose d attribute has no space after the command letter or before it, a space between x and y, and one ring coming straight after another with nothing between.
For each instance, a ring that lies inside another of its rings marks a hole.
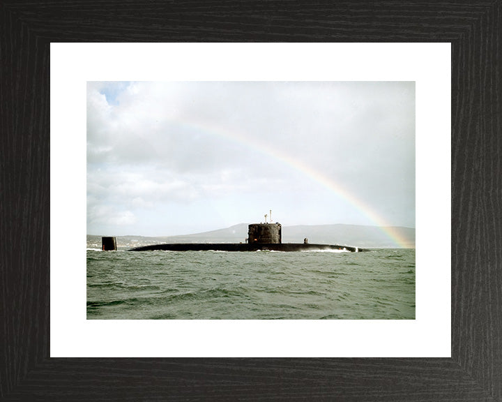
<instances>
[{"instance_id":1,"label":"pale overcast sky above the hills and submarine","mask_svg":"<svg viewBox=\"0 0 502 402\"><path fill-rule=\"evenodd\" d=\"M414 82L88 83L88 234L204 232L269 209L282 225L414 228Z\"/></svg>"}]
</instances>

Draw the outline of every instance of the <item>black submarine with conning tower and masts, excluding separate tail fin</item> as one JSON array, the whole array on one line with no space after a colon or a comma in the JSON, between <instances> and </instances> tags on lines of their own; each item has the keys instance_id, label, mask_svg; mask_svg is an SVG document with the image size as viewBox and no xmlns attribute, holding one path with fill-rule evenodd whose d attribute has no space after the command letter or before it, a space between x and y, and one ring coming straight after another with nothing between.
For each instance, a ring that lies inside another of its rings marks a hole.
<instances>
[{"instance_id":1,"label":"black submarine with conning tower and masts, excluding separate tail fin","mask_svg":"<svg viewBox=\"0 0 502 402\"><path fill-rule=\"evenodd\" d=\"M271 211L272 215L272 211ZM308 239L303 243L282 243L282 226L280 223L252 223L248 226L248 238L245 243L170 243L153 244L131 248L129 251L366 251L362 248L340 246L337 244L310 244Z\"/></svg>"}]
</instances>

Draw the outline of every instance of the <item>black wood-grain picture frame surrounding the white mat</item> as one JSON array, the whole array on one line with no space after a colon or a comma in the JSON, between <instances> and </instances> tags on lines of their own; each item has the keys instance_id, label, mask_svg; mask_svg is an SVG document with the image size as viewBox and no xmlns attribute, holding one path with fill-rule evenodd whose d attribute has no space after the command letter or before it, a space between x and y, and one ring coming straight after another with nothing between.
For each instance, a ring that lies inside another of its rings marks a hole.
<instances>
[{"instance_id":1,"label":"black wood-grain picture frame surrounding the white mat","mask_svg":"<svg viewBox=\"0 0 502 402\"><path fill-rule=\"evenodd\" d=\"M1 401L502 401L501 15L500 0L3 0ZM118 41L450 42L452 357L50 358L50 43Z\"/></svg>"}]
</instances>

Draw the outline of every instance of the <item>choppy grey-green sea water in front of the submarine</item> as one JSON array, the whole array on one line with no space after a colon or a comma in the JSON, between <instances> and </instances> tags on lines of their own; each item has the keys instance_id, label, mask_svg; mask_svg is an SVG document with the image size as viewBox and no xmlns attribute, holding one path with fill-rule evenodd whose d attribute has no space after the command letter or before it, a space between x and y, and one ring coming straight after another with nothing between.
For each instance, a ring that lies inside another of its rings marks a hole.
<instances>
[{"instance_id":1,"label":"choppy grey-green sea water in front of the submarine","mask_svg":"<svg viewBox=\"0 0 502 402\"><path fill-rule=\"evenodd\" d=\"M88 250L87 318L413 320L415 250Z\"/></svg>"}]
</instances>

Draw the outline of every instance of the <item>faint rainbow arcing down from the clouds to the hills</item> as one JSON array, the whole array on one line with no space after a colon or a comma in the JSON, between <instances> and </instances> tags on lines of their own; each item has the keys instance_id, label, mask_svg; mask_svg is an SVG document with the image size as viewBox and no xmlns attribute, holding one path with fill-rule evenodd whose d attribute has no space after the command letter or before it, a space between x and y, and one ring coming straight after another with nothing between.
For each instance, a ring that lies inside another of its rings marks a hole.
<instances>
[{"instance_id":1,"label":"faint rainbow arcing down from the clouds to the hills","mask_svg":"<svg viewBox=\"0 0 502 402\"><path fill-rule=\"evenodd\" d=\"M220 126L211 126L211 124L194 124L187 123L186 121L176 121L176 124L183 126L184 128L195 129L199 132L206 133L209 135L214 135L216 137L222 137L225 140L229 140L231 142L236 142L244 147L251 148L253 151L259 152L260 154L264 154L269 158L273 158L276 161L280 161L285 165L288 165L289 168L292 168L301 174L305 175L312 181L320 184L324 188L328 189L328 191L333 191L339 198L351 204L354 208L358 210L360 214L370 219L370 221L379 227L379 229L386 234L386 236L393 241L395 246L407 248L409 247L408 241L402 237L402 235L395 230L395 228L390 227L386 221L377 214L376 211L370 205L363 202L359 198L356 197L353 193L347 191L345 188L340 186L340 184L336 183L330 177L327 177L323 172L312 168L312 166L299 161L292 156L289 156L282 152L280 149L269 149L268 147L263 147L261 143L258 143L257 140L254 140L252 135L245 135L245 133L241 133L239 131L229 131L226 128L222 128Z\"/></svg>"}]
</instances>

